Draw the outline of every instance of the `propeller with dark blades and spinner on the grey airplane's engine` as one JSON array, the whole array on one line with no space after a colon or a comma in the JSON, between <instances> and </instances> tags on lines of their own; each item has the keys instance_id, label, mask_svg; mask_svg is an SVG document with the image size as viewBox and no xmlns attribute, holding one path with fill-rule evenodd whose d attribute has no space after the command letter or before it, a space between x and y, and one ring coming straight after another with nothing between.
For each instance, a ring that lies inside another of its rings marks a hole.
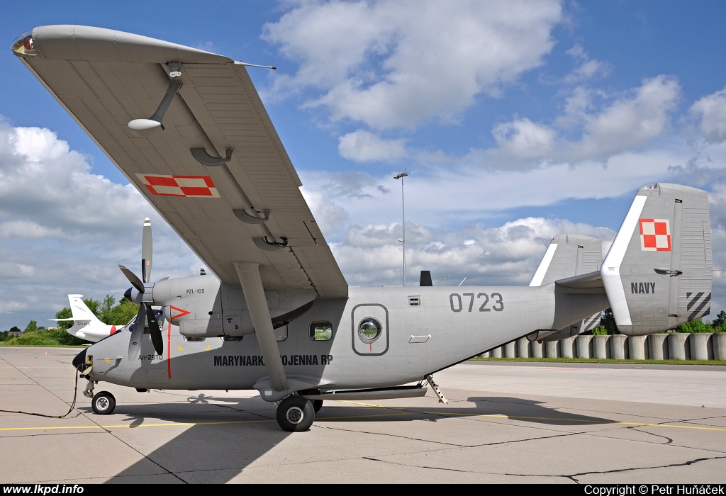
<instances>
[{"instance_id":1,"label":"propeller with dark blades and spinner on the grey airplane's engine","mask_svg":"<svg viewBox=\"0 0 726 496\"><path fill-rule=\"evenodd\" d=\"M138 297L134 298L132 295L131 288L123 295L126 299L134 303L139 303L139 313L136 314L136 320L134 321L134 330L131 331L131 339L129 339L129 360L136 360L141 350L141 339L144 336L146 329L145 321L148 321L148 329L151 334L151 342L154 344L154 350L158 355L163 355L164 342L161 337L161 329L159 322L156 320L156 315L151 308L153 299L153 285L149 285L151 279L151 261L152 261L152 236L151 236L151 220L146 218L144 220L144 233L142 236L142 247L141 247L141 273L144 281L136 277L136 274L131 272L123 265L118 265L123 275L129 279L131 286L138 292ZM151 290L151 291L149 291ZM138 301L134 301L137 299Z\"/></svg>"}]
</instances>

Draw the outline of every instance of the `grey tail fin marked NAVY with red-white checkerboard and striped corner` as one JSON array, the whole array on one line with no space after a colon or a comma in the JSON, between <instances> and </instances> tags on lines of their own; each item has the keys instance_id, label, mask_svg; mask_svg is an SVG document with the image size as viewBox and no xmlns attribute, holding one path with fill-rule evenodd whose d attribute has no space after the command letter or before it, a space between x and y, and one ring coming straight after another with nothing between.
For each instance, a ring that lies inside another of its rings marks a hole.
<instances>
[{"instance_id":1,"label":"grey tail fin marked NAVY with red-white checkerboard and striped corner","mask_svg":"<svg viewBox=\"0 0 726 496\"><path fill-rule=\"evenodd\" d=\"M623 334L665 331L708 315L711 224L706 191L643 186L600 270Z\"/></svg>"}]
</instances>

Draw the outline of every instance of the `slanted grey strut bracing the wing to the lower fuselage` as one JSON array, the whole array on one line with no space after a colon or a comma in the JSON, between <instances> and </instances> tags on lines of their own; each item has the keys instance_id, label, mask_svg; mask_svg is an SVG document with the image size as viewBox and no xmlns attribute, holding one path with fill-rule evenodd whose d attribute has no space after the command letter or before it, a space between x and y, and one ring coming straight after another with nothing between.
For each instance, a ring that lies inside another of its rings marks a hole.
<instances>
[{"instance_id":1,"label":"slanted grey strut bracing the wing to the lower fuselage","mask_svg":"<svg viewBox=\"0 0 726 496\"><path fill-rule=\"evenodd\" d=\"M257 342L260 344L262 356L265 359L267 373L270 376L270 384L275 391L287 389L287 377L282 368L280 348L277 347L277 340L274 337L272 319L265 300L265 292L262 289L260 278L260 264L253 262L235 262L237 276L242 284L242 292L245 293L247 306L250 309L252 325L255 328Z\"/></svg>"}]
</instances>

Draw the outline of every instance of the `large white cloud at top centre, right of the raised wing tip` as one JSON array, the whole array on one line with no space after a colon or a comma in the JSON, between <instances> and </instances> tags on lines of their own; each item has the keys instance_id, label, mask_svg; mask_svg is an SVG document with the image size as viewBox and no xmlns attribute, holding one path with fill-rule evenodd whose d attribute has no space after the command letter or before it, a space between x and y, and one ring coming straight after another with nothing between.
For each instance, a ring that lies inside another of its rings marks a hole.
<instances>
[{"instance_id":1,"label":"large white cloud at top centre, right of the raised wing tip","mask_svg":"<svg viewBox=\"0 0 726 496\"><path fill-rule=\"evenodd\" d=\"M560 1L297 1L263 38L298 63L273 93L316 88L307 107L376 129L456 120L542 65Z\"/></svg>"}]
</instances>

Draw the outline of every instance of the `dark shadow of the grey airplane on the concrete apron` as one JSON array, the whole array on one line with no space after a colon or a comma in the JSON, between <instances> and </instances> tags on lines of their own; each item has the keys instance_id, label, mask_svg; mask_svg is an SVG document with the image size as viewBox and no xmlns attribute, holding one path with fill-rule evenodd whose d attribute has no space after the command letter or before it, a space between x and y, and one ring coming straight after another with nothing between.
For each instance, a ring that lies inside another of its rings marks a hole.
<instances>
[{"instance_id":1,"label":"dark shadow of the grey airplane on the concrete apron","mask_svg":"<svg viewBox=\"0 0 726 496\"><path fill-rule=\"evenodd\" d=\"M183 397L180 397L180 400L183 400ZM547 408L541 402L524 398L469 397L467 401L467 403L452 402L446 406L435 404L431 407L397 407L393 404L379 408L360 403L345 405L341 402L331 402L318 413L317 421L379 423L493 416L513 421L561 426L612 422L607 418L564 413ZM361 403L378 405L375 401ZM457 406L457 403L462 406ZM79 408L79 410L91 413L90 408ZM119 416L126 418L119 421ZM306 435L282 431L275 420L275 410L272 405L259 397L207 397L204 394L190 394L187 397L187 404L175 402L119 405L115 410L115 416L110 417L109 421L99 417L94 419L102 425L128 423L132 429L139 429L131 436L144 432L144 423L195 424L172 434L173 439L146 455L148 460L139 460L123 468L108 481L110 483L129 483L134 479L144 480L144 474L166 472L178 474L181 479L189 482L224 483L280 445L288 436ZM150 429L174 429L174 427L150 427ZM169 434L163 432L160 434L157 431L152 435L157 437ZM118 435L121 439L127 436L128 433ZM131 443L136 444L133 441Z\"/></svg>"}]
</instances>

